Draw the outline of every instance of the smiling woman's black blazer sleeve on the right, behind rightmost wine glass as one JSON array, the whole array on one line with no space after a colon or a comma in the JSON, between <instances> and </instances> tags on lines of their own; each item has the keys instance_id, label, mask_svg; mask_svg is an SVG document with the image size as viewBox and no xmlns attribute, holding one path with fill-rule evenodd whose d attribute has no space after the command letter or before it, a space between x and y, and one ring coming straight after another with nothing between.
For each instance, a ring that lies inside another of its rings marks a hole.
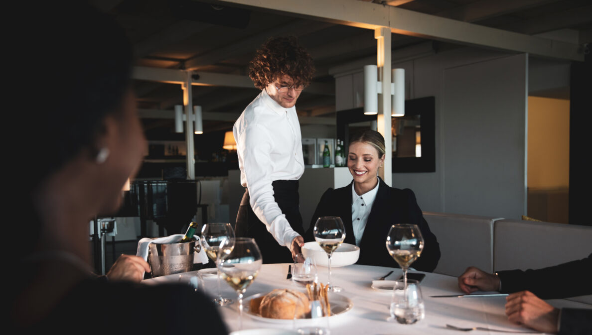
<instances>
[{"instance_id":1,"label":"smiling woman's black blazer sleeve on the right, behind rightmost wine glass","mask_svg":"<svg viewBox=\"0 0 592 335\"><path fill-rule=\"evenodd\" d=\"M423 218L422 210L417 205L417 199L413 191L406 188L403 192L406 193L409 222L419 226L424 241L422 255L411 267L420 271L433 272L440 260L440 244L438 244L436 235L432 233L430 227L427 225L426 219Z\"/></svg>"}]
</instances>

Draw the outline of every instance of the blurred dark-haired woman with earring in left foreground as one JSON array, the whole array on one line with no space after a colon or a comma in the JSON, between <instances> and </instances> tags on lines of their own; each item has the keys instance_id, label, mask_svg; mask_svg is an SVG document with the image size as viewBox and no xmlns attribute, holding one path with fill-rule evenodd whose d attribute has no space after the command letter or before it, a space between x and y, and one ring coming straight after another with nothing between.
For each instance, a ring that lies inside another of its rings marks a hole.
<instances>
[{"instance_id":1,"label":"blurred dark-haired woman with earring in left foreground","mask_svg":"<svg viewBox=\"0 0 592 335\"><path fill-rule=\"evenodd\" d=\"M140 257L120 257L107 278L92 274L89 220L117 211L146 149L131 44L112 18L83 2L31 6L15 11L35 25L21 31L19 51L32 57L43 50L37 75L46 80L22 113L33 150L19 160L25 168L13 199L25 210L11 214L20 233L11 235L9 329L181 333L200 324L226 333L209 299L189 286L137 284L150 270Z\"/></svg>"}]
</instances>

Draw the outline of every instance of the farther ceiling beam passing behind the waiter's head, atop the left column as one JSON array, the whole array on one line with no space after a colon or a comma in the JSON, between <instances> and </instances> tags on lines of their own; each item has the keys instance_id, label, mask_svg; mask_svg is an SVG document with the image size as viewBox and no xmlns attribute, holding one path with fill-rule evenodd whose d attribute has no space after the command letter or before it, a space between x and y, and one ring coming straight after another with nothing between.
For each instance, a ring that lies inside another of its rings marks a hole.
<instances>
[{"instance_id":1,"label":"farther ceiling beam passing behind the waiter's head, atop the left column","mask_svg":"<svg viewBox=\"0 0 592 335\"><path fill-rule=\"evenodd\" d=\"M227 86L238 88L255 88L248 76L227 75L226 73L195 72L200 78L193 79L195 86ZM132 78L156 82L174 83L181 85L184 82L185 72L175 69L162 69L160 67L134 66ZM334 95L335 87L331 83L311 83L306 88L307 93Z\"/></svg>"}]
</instances>

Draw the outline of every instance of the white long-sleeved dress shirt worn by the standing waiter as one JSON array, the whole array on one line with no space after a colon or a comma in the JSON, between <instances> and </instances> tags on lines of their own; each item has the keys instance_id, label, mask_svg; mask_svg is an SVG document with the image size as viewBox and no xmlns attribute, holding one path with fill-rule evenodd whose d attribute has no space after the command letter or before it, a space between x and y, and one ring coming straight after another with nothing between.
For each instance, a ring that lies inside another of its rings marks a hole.
<instances>
[{"instance_id":1,"label":"white long-sleeved dress shirt worn by the standing waiter","mask_svg":"<svg viewBox=\"0 0 592 335\"><path fill-rule=\"evenodd\" d=\"M281 246L289 246L300 234L275 202L271 183L298 180L304 173L296 108L281 107L263 89L236 120L233 133L240 183L249 189L253 212Z\"/></svg>"}]
</instances>

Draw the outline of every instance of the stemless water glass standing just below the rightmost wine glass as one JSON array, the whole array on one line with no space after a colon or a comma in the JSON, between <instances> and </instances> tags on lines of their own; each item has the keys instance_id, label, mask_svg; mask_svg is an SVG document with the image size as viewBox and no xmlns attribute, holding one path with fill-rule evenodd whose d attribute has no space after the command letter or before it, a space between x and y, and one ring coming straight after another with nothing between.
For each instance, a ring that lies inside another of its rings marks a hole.
<instances>
[{"instance_id":1,"label":"stemless water glass standing just below the rightmost wine glass","mask_svg":"<svg viewBox=\"0 0 592 335\"><path fill-rule=\"evenodd\" d=\"M392 289L390 321L397 320L402 324L414 324L425 316L422 289L419 282L407 279L407 286L403 279L395 282Z\"/></svg>"}]
</instances>

